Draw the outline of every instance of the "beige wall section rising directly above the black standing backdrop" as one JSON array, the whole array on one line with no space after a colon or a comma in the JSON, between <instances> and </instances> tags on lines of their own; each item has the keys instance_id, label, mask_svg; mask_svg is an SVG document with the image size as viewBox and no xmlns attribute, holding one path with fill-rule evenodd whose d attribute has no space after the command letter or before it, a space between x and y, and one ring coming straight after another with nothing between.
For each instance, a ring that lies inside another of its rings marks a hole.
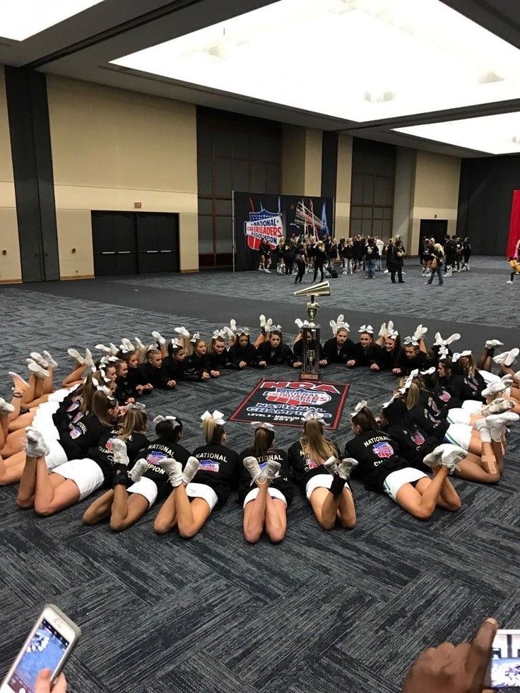
<instances>
[{"instance_id":1,"label":"beige wall section rising directly above the black standing backdrop","mask_svg":"<svg viewBox=\"0 0 520 693\"><path fill-rule=\"evenodd\" d=\"M321 195L321 137L321 130L283 126L283 195Z\"/></svg>"}]
</instances>

